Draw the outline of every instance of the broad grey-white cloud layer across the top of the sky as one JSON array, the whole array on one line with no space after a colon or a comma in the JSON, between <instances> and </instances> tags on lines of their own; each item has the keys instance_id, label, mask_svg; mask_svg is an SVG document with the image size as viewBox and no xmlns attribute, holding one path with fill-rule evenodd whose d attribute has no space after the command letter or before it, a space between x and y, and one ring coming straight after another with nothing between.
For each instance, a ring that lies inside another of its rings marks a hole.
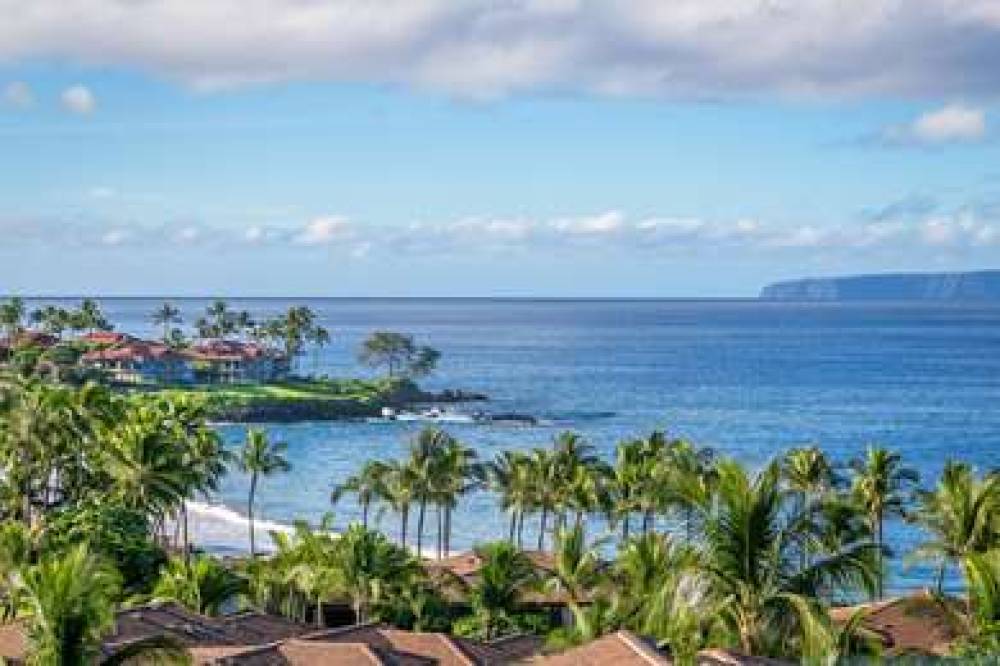
<instances>
[{"instance_id":1,"label":"broad grey-white cloud layer across the top of the sky","mask_svg":"<svg viewBox=\"0 0 1000 666\"><path fill-rule=\"evenodd\" d=\"M1000 93L995 0L0 0L0 16L0 61L109 64L207 89L297 79L474 97Z\"/></svg>"}]
</instances>

